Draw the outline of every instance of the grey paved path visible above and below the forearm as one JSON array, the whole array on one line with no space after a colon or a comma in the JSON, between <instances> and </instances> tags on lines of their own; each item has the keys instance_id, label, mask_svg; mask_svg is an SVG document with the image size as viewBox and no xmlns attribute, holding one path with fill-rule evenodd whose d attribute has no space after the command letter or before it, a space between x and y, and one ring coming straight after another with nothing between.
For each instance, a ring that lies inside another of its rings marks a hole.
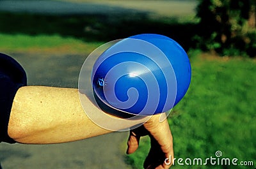
<instances>
[{"instance_id":1,"label":"grey paved path visible above and below the forearm","mask_svg":"<svg viewBox=\"0 0 256 169\"><path fill-rule=\"evenodd\" d=\"M12 54L24 66L29 85L76 87L86 55ZM131 168L124 162L127 132L54 145L0 143L3 169Z\"/></svg>"}]
</instances>

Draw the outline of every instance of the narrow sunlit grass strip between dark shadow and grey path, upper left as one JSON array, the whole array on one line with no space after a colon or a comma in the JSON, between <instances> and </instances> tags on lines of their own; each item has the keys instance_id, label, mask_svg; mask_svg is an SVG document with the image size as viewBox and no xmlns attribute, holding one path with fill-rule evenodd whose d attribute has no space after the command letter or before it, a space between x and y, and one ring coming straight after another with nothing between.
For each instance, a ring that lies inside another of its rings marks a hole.
<instances>
[{"instance_id":1,"label":"narrow sunlit grass strip between dark shadow and grey path, upper left","mask_svg":"<svg viewBox=\"0 0 256 169\"><path fill-rule=\"evenodd\" d=\"M59 35L0 34L0 50L15 52L92 52L101 42L86 42Z\"/></svg>"}]
</instances>

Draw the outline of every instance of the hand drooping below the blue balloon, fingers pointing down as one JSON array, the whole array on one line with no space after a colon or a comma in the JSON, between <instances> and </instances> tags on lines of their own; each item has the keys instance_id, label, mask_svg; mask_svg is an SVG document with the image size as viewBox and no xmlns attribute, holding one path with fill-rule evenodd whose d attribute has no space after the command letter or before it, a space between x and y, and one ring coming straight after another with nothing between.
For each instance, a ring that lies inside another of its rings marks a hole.
<instances>
[{"instance_id":1,"label":"hand drooping below the blue balloon, fingers pointing down","mask_svg":"<svg viewBox=\"0 0 256 169\"><path fill-rule=\"evenodd\" d=\"M151 148L144 162L144 168L166 169L172 165L173 138L168 121L159 121L159 115L153 115L143 126L132 129L128 140L127 154L132 154L138 149L140 137L150 136ZM171 157L171 159L169 159ZM167 160L171 160L168 161ZM164 163L166 161L166 163ZM168 165L170 163L170 165Z\"/></svg>"}]
</instances>

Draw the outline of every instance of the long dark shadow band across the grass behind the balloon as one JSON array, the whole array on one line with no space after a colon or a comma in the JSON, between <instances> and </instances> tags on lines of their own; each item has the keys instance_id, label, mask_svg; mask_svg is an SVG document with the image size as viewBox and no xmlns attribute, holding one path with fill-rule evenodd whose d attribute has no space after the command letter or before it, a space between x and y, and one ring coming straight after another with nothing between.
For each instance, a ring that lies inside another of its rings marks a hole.
<instances>
[{"instance_id":1,"label":"long dark shadow band across the grass behind the balloon","mask_svg":"<svg viewBox=\"0 0 256 169\"><path fill-rule=\"evenodd\" d=\"M156 33L169 36L185 50L193 47L191 38L197 31L196 27L191 23L178 24L177 18L154 19L148 17L148 13L136 11L122 15L0 12L0 33L60 34L90 41L111 41L134 34Z\"/></svg>"}]
</instances>

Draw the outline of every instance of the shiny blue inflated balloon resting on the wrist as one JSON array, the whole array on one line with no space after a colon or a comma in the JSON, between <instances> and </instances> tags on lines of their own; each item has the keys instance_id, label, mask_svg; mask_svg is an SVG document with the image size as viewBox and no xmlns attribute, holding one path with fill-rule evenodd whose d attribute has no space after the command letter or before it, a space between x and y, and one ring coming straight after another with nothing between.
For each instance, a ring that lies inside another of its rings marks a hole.
<instances>
[{"instance_id":1,"label":"shiny blue inflated balloon resting on the wrist","mask_svg":"<svg viewBox=\"0 0 256 169\"><path fill-rule=\"evenodd\" d=\"M159 34L138 34L101 54L91 80L95 97L108 107L153 115L170 110L184 97L191 66L176 41Z\"/></svg>"}]
</instances>

